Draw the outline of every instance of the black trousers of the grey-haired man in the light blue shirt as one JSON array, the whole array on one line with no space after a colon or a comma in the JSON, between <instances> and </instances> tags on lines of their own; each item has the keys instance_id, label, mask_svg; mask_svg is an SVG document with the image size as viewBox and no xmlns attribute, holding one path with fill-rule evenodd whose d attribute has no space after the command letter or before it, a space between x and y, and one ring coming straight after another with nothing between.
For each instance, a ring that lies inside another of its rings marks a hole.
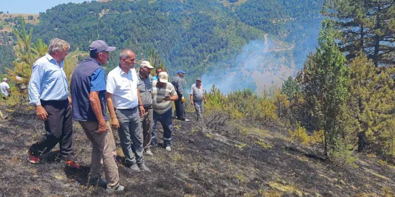
<instances>
[{"instance_id":1,"label":"black trousers of the grey-haired man in the light blue shirt","mask_svg":"<svg viewBox=\"0 0 395 197\"><path fill-rule=\"evenodd\" d=\"M37 143L33 144L29 151L34 156L51 151L59 143L60 154L65 160L74 160L73 145L73 122L71 119L71 107L66 100L41 100L41 106L47 111L45 135Z\"/></svg>"}]
</instances>

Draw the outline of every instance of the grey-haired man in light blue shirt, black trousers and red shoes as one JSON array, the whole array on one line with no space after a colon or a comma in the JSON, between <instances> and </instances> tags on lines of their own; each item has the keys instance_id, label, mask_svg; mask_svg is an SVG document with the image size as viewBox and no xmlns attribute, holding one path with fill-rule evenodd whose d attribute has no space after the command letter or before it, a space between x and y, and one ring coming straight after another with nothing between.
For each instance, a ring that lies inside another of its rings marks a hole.
<instances>
[{"instance_id":1,"label":"grey-haired man in light blue shirt, black trousers and red shoes","mask_svg":"<svg viewBox=\"0 0 395 197\"><path fill-rule=\"evenodd\" d=\"M36 115L44 121L46 133L27 152L27 160L32 164L40 162L40 155L60 145L66 164L79 168L74 161L73 123L71 119L71 99L68 91L63 60L70 49L69 43L55 38L48 46L48 53L38 59L32 67L29 82L29 104L36 107Z\"/></svg>"}]
</instances>

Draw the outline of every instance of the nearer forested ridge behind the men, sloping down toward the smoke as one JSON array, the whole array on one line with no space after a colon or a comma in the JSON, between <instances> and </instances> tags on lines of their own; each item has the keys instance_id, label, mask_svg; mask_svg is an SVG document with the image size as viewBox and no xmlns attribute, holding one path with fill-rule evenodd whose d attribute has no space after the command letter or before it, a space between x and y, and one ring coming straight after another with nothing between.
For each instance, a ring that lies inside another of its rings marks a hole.
<instances>
[{"instance_id":1,"label":"nearer forested ridge behind the men, sloping down toward the smoke","mask_svg":"<svg viewBox=\"0 0 395 197\"><path fill-rule=\"evenodd\" d=\"M235 19L215 1L63 4L41 13L40 20L34 26L34 38L47 42L60 37L72 49L82 50L91 41L103 39L119 49L132 48L139 59L145 58L149 47L154 48L171 74L176 69L201 74L205 62L218 61L237 53L247 41L263 38L263 32ZM116 65L115 56L110 66Z\"/></svg>"}]
</instances>

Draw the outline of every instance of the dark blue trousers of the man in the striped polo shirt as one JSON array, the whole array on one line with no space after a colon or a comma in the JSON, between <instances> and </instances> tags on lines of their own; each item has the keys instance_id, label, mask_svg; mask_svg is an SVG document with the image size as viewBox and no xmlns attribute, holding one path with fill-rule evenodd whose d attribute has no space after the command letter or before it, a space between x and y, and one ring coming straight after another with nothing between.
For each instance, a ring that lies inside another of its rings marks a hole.
<instances>
[{"instance_id":1,"label":"dark blue trousers of the man in the striped polo shirt","mask_svg":"<svg viewBox=\"0 0 395 197\"><path fill-rule=\"evenodd\" d=\"M163 127L163 141L165 146L170 146L171 141L171 132L173 129L171 128L171 109L165 112L164 114L158 114L154 110L154 124L152 125L152 133L151 133L151 144L153 146L158 146L158 142L156 141L156 123L160 121Z\"/></svg>"}]
</instances>

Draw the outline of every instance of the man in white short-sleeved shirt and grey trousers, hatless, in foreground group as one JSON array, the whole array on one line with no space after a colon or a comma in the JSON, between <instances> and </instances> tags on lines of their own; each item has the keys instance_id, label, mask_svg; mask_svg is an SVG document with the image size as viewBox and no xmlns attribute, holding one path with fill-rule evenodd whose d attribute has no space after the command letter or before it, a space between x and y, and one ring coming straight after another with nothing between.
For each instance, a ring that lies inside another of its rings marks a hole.
<instances>
[{"instance_id":1,"label":"man in white short-sleeved shirt and grey trousers, hatless, in foreground group","mask_svg":"<svg viewBox=\"0 0 395 197\"><path fill-rule=\"evenodd\" d=\"M135 54L124 49L119 55L119 66L107 75L107 105L111 115L111 126L118 129L126 166L132 171L150 171L144 163L143 139L140 116L145 109L137 89L137 73L134 69ZM132 139L133 144L130 143ZM133 149L132 149L133 145ZM135 157L133 156L135 154Z\"/></svg>"}]
</instances>

